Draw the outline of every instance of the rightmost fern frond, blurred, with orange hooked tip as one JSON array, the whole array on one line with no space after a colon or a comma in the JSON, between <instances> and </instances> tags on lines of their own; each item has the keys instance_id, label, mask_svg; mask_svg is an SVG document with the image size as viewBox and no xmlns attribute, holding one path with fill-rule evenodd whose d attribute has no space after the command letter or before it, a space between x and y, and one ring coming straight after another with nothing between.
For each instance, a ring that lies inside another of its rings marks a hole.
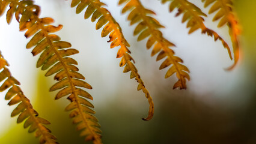
<instances>
[{"instance_id":1,"label":"rightmost fern frond, blurred, with orange hooked tip","mask_svg":"<svg viewBox=\"0 0 256 144\"><path fill-rule=\"evenodd\" d=\"M209 10L209 14L218 11L213 17L213 22L219 20L218 27L222 27L225 24L228 25L230 29L230 37L233 44L233 51L234 51L234 64L231 67L227 68L231 70L237 64L239 59L239 37L240 28L237 22L237 17L234 14L233 10L233 2L231 0L202 0L204 2L204 7L208 7L210 4L213 3L212 7Z\"/></svg>"}]
</instances>

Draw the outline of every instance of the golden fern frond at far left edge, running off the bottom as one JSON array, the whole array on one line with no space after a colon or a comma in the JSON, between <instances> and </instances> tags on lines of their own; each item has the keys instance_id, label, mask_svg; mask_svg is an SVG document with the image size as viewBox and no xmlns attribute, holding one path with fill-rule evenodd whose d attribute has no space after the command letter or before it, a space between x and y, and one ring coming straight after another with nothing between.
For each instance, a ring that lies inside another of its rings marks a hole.
<instances>
[{"instance_id":1,"label":"golden fern frond at far left edge, running off the bottom","mask_svg":"<svg viewBox=\"0 0 256 144\"><path fill-rule=\"evenodd\" d=\"M7 66L9 65L0 52L0 70L2 70L0 73L0 82L4 80L4 83L0 87L0 92L8 89L5 100L10 100L8 103L9 106L19 103L11 113L11 117L19 115L17 118L18 124L26 119L24 128L30 126L28 132L32 133L35 131L35 137L40 137L40 143L57 143L56 137L44 126L50 124L50 122L38 116L38 113L33 109L30 101L20 89L20 82L11 76Z\"/></svg>"}]
</instances>

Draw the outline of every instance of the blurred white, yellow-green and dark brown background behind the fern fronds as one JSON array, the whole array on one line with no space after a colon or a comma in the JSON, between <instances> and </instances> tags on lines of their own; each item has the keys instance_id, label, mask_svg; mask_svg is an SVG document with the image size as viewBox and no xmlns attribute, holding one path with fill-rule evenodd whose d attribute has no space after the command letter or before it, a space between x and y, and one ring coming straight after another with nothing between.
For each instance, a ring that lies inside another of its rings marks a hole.
<instances>
[{"instance_id":1,"label":"blurred white, yellow-green and dark brown background behind the fern fronds","mask_svg":"<svg viewBox=\"0 0 256 144\"><path fill-rule=\"evenodd\" d=\"M130 80L129 73L123 73L119 67L121 59L115 58L118 48L110 49L108 38L100 37L102 29L96 31L96 23L84 20L85 10L75 14L75 8L70 8L71 1L44 0L36 4L41 6L41 17L52 17L54 25L64 25L57 34L80 52L73 58L78 61L79 72L86 82L93 86L88 92L94 97L92 103L102 125L103 143L256 143L256 1L234 1L242 25L242 52L234 70L225 71L233 61L220 41L202 35L200 30L188 35L186 23L181 24L182 17L175 17L177 11L168 13L168 4L142 0L146 8L156 12L156 19L166 27L162 29L163 35L177 46L173 47L176 55L190 70L188 88L181 91L172 90L175 76L164 79L168 68L158 70L162 61L150 57L146 40L136 42L135 26L129 26L127 14L121 14L123 6L118 6L118 1L102 2L120 23L135 66L153 98L155 113L150 121L141 120L147 116L148 103L143 93L136 91L136 81ZM191 2L204 13L209 11L200 1ZM212 23L214 15L206 18L206 25L231 46L228 28L218 29L218 22ZM58 142L85 143L75 130L69 112L64 112L69 101L54 100L56 92L48 92L55 83L53 77L44 77L46 71L35 68L38 56L33 57L31 49L25 49L28 40L24 32L19 32L16 20L7 25L6 17L2 16L0 31L0 49L11 73L20 81L34 109L52 123L47 127ZM10 117L16 106L7 105L5 93L0 94L0 143L38 143L38 139L24 130L23 124L16 124L17 117Z\"/></svg>"}]
</instances>

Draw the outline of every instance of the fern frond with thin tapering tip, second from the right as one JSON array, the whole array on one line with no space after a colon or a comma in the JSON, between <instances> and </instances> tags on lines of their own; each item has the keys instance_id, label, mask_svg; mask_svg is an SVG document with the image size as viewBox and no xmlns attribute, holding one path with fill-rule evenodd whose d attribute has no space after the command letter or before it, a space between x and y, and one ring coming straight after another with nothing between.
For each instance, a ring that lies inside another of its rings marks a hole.
<instances>
[{"instance_id":1,"label":"fern frond with thin tapering tip, second from the right","mask_svg":"<svg viewBox=\"0 0 256 144\"><path fill-rule=\"evenodd\" d=\"M232 58L231 50L225 40L217 32L212 29L207 28L204 25L204 17L207 17L203 11L197 5L192 4L187 0L161 0L163 4L167 1L171 1L169 4L169 12L172 12L175 8L178 8L178 13L176 16L180 16L183 14L182 23L187 21L187 28L189 28L189 34L196 31L197 29L201 29L202 34L207 34L211 37L214 37L214 40L220 40L225 49L228 50L228 55L230 59Z\"/></svg>"}]
</instances>

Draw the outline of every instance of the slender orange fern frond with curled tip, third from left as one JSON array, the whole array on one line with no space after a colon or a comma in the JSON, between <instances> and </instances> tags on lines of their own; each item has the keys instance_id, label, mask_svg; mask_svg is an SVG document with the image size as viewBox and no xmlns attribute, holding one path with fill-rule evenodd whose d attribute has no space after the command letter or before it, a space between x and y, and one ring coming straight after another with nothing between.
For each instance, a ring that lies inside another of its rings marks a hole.
<instances>
[{"instance_id":1,"label":"slender orange fern frond with curled tip, third from left","mask_svg":"<svg viewBox=\"0 0 256 144\"><path fill-rule=\"evenodd\" d=\"M109 35L108 42L111 42L111 49L120 46L120 49L117 52L117 58L121 58L120 67L125 65L123 72L127 73L131 71L130 79L135 77L136 81L139 83L137 88L138 91L142 89L145 97L148 99L148 103L150 104L147 118L142 119L150 120L153 118L154 104L148 90L144 86L141 76L138 74L138 70L133 64L134 60L132 56L129 55L130 50L127 47L129 47L130 44L127 43L126 39L124 38L120 25L116 22L114 17L112 17L111 13L102 6L105 6L105 4L99 0L72 0L71 3L71 7L76 7L77 14L81 13L81 11L87 7L84 14L85 19L88 19L90 16L91 22L95 22L97 19L99 19L96 23L96 29L100 29L105 25L102 31L102 37Z\"/></svg>"}]
</instances>

